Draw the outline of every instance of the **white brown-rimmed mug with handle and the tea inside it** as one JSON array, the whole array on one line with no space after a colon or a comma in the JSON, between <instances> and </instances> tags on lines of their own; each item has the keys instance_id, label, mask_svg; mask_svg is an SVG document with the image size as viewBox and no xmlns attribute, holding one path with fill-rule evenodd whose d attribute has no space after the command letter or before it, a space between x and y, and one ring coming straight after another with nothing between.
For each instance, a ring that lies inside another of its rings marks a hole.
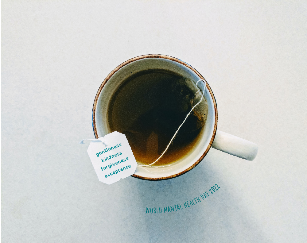
<instances>
[{"instance_id":1,"label":"white brown-rimmed mug with handle and the tea inside it","mask_svg":"<svg viewBox=\"0 0 307 243\"><path fill-rule=\"evenodd\" d=\"M200 100L163 156L150 165ZM217 130L216 100L209 84L195 68L166 55L138 56L116 67L99 87L92 123L96 138L114 131L126 135L142 165L132 175L139 179L180 176L199 164L211 147L245 160L253 160L258 152L255 143Z\"/></svg>"}]
</instances>

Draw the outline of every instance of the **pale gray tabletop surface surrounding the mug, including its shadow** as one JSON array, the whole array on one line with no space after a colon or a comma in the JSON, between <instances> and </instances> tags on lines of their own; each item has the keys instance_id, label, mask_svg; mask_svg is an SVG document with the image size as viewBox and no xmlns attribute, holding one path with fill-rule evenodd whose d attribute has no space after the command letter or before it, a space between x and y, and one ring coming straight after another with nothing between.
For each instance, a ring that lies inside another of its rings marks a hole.
<instances>
[{"instance_id":1,"label":"pale gray tabletop surface surrounding the mug, including its shadow","mask_svg":"<svg viewBox=\"0 0 307 243\"><path fill-rule=\"evenodd\" d=\"M2 2L2 242L306 242L306 6ZM153 53L207 79L218 129L257 143L254 161L211 149L175 179L99 182L78 144L95 94Z\"/></svg>"}]
</instances>

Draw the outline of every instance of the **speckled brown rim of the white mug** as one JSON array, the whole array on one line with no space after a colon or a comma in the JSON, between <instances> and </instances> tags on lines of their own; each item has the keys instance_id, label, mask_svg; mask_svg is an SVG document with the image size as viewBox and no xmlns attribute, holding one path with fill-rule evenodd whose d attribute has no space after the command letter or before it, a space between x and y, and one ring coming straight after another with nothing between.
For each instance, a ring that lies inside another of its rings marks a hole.
<instances>
[{"instance_id":1,"label":"speckled brown rim of the white mug","mask_svg":"<svg viewBox=\"0 0 307 243\"><path fill-rule=\"evenodd\" d=\"M100 87L99 87L99 89L98 89L98 91L96 93L94 104L93 104L93 110L92 110L92 126L93 126L94 135L95 135L96 139L99 138L98 137L98 133L97 133L97 128L96 128L96 121L95 121L96 106L97 106L99 95L100 95L104 85L112 77L112 75L114 75L115 72L118 71L123 66L125 66L127 64L130 64L130 63L132 63L134 61L145 59L145 58L163 58L163 59L168 59L168 60L175 61L177 63L180 63L180 64L185 65L186 67L190 68L192 71L194 71L198 75L198 77L200 79L204 79L204 77L194 67L192 67L191 65L187 64L186 62L184 62L184 61L182 61L182 60L180 60L178 58L172 57L172 56L161 55L161 54L147 54L147 55L137 56L137 57L131 58L131 59L123 62L122 64L117 66L113 71L111 71L111 73L109 73L109 75L107 75L107 77L103 80L103 82L101 83L101 85L100 85ZM206 81L206 79L204 79L204 80ZM133 177L136 177L138 179L143 179L143 180L167 180L167 179L175 178L177 176L181 176L181 175L187 173L188 171L192 170L197 164L199 164L201 160L203 160L203 158L206 156L206 154L208 153L209 149L212 146L212 143L213 143L215 135L216 135L216 130L217 130L217 105L216 105L216 100L215 100L213 92L212 92L212 90L211 90L211 88L210 88L210 86L209 86L207 81L206 81L206 87L207 87L207 89L208 89L208 91L209 91L209 93L211 95L212 100L213 100L214 111L215 111L215 121L214 121L214 128L213 128L213 134L212 134L211 140L209 142L209 145L208 145L207 149L203 153L203 155L200 156L200 158L194 164L192 164L189 168L187 168L184 171L179 172L179 173L177 173L175 175L166 176L166 177L152 178L152 177L144 177L144 176L138 176L138 175L133 174L132 175Z\"/></svg>"}]
</instances>

